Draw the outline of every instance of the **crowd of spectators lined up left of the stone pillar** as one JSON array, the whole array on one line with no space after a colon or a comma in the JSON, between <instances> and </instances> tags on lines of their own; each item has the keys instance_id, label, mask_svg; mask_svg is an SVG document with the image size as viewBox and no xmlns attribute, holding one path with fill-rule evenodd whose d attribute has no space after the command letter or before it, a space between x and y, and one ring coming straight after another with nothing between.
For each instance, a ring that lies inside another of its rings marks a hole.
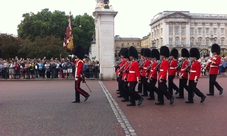
<instances>
[{"instance_id":1,"label":"crowd of spectators lined up left of the stone pillar","mask_svg":"<svg viewBox=\"0 0 227 136\"><path fill-rule=\"evenodd\" d=\"M74 58L73 58L74 59ZM84 75L86 78L98 78L99 62L86 58ZM75 64L72 58L46 59L12 59L0 58L0 79L37 79L37 78L66 78L75 77Z\"/></svg>"}]
</instances>

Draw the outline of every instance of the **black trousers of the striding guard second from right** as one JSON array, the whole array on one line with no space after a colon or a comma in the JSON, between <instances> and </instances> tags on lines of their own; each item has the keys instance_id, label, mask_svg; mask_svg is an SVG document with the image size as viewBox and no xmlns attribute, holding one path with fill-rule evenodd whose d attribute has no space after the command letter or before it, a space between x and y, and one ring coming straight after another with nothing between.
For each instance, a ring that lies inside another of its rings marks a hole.
<instances>
[{"instance_id":1,"label":"black trousers of the striding guard second from right","mask_svg":"<svg viewBox=\"0 0 227 136\"><path fill-rule=\"evenodd\" d=\"M188 85L188 101L193 102L193 93L195 93L199 97L203 97L204 94L196 88L197 83L195 83L194 80L189 80L189 85Z\"/></svg>"}]
</instances>

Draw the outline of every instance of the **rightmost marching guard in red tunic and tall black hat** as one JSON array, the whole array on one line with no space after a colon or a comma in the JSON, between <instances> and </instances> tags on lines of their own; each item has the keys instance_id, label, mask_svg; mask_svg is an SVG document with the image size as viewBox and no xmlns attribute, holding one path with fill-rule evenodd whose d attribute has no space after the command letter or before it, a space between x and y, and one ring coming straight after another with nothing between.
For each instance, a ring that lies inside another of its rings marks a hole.
<instances>
[{"instance_id":1,"label":"rightmost marching guard in red tunic and tall black hat","mask_svg":"<svg viewBox=\"0 0 227 136\"><path fill-rule=\"evenodd\" d=\"M207 95L214 95L214 86L219 90L219 95L223 93L223 88L216 81L217 75L219 74L219 65L221 64L220 46L218 44L213 44L211 47L211 52L213 57L210 59L206 66L210 68L209 71L209 93Z\"/></svg>"}]
</instances>

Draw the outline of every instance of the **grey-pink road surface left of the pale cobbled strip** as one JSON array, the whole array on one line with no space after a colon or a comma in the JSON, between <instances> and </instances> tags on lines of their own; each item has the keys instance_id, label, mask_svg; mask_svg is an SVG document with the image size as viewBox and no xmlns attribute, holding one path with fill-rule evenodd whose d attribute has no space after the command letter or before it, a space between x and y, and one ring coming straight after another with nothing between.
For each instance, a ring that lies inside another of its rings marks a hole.
<instances>
[{"instance_id":1,"label":"grey-pink road surface left of the pale cobbled strip","mask_svg":"<svg viewBox=\"0 0 227 136\"><path fill-rule=\"evenodd\" d=\"M73 80L0 81L0 136L125 135L99 83L87 84L91 97L71 103Z\"/></svg>"}]
</instances>

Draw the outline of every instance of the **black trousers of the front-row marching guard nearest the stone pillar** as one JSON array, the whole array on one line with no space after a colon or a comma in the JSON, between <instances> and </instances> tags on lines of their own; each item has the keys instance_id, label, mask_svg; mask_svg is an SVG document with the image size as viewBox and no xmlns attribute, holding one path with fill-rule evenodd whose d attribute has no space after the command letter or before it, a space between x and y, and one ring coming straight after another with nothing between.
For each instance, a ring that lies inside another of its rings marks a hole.
<instances>
[{"instance_id":1,"label":"black trousers of the front-row marching guard nearest the stone pillar","mask_svg":"<svg viewBox=\"0 0 227 136\"><path fill-rule=\"evenodd\" d=\"M135 91L137 82L129 82L129 92L130 92L130 103L136 104L136 100L139 100L141 96Z\"/></svg>"}]
</instances>

